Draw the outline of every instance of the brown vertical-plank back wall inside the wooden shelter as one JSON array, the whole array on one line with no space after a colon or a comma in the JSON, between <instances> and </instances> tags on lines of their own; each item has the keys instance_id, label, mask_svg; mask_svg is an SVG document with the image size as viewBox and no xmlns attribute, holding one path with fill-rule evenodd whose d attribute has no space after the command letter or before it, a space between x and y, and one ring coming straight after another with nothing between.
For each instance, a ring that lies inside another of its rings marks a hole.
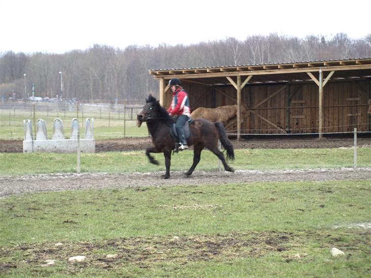
<instances>
[{"instance_id":1,"label":"brown vertical-plank back wall inside the wooden shelter","mask_svg":"<svg viewBox=\"0 0 371 278\"><path fill-rule=\"evenodd\" d=\"M190 97L191 108L213 107L213 88L184 82L184 89ZM288 133L318 132L318 87L314 83L290 85L249 85L242 90L242 101L250 108L274 97L253 109L256 113ZM222 94L221 92L224 92ZM226 96L227 95L227 96ZM287 99L292 95L287 109ZM171 92L166 93L166 107L171 102ZM216 106L236 104L236 90L233 87L215 87ZM324 88L324 132L367 130L367 81L330 81ZM287 119L287 112L289 118ZM255 114L245 118L242 133L282 133L276 127ZM288 121L289 120L289 121ZM230 128L235 132L236 126Z\"/></svg>"}]
</instances>

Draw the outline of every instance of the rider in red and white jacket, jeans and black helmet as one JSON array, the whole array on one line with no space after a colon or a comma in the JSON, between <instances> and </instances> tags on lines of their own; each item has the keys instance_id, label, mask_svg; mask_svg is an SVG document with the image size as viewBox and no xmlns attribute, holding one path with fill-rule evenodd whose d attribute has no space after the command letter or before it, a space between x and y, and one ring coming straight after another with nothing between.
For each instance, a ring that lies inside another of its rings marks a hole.
<instances>
[{"instance_id":1,"label":"rider in red and white jacket, jeans and black helmet","mask_svg":"<svg viewBox=\"0 0 371 278\"><path fill-rule=\"evenodd\" d=\"M171 91L173 92L173 100L171 101L168 113L171 117L174 115L178 116L178 118L176 119L175 128L179 137L179 149L182 151L188 149L186 136L184 136L183 126L188 121L191 115L190 101L188 99L187 92L184 91L181 87L179 78L170 79L169 86Z\"/></svg>"}]
</instances>

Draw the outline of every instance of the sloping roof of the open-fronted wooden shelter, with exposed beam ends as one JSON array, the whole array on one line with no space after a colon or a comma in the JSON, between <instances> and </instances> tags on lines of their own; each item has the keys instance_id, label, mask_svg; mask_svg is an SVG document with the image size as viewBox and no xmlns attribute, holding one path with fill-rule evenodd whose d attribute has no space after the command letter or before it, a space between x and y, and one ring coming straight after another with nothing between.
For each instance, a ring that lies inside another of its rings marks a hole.
<instances>
[{"instance_id":1,"label":"sloping roof of the open-fronted wooden shelter, with exposed beam ends","mask_svg":"<svg viewBox=\"0 0 371 278\"><path fill-rule=\"evenodd\" d=\"M171 79L178 77L182 80L197 78L197 82L204 85L227 84L227 76L253 75L251 82L287 82L311 80L307 72L314 75L319 70L335 71L331 80L371 77L371 58L356 58L343 60L321 60L293 63L274 63L258 65L238 65L221 67L200 67L181 69L149 70L155 78ZM191 82L191 80L188 80ZM196 82L196 80L194 80Z\"/></svg>"}]
</instances>

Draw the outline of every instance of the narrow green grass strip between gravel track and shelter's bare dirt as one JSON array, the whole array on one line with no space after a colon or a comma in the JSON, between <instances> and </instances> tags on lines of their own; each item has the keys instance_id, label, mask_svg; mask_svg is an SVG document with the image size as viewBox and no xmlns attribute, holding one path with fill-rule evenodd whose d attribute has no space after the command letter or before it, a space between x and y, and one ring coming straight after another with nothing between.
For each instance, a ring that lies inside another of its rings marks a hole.
<instances>
[{"instance_id":1,"label":"narrow green grass strip between gravel track and shelter's bare dirt","mask_svg":"<svg viewBox=\"0 0 371 278\"><path fill-rule=\"evenodd\" d=\"M82 172L123 173L164 171L163 154L154 154L160 165L153 165L143 151L82 154ZM239 149L230 165L238 170L284 170L342 168L353 166L353 149ZM359 167L371 166L371 149L358 149ZM172 156L171 171L187 171L193 152L184 151ZM21 165L21 166L20 166ZM203 151L196 171L215 171L218 158ZM76 154L0 153L1 175L70 173L76 171Z\"/></svg>"}]
</instances>

